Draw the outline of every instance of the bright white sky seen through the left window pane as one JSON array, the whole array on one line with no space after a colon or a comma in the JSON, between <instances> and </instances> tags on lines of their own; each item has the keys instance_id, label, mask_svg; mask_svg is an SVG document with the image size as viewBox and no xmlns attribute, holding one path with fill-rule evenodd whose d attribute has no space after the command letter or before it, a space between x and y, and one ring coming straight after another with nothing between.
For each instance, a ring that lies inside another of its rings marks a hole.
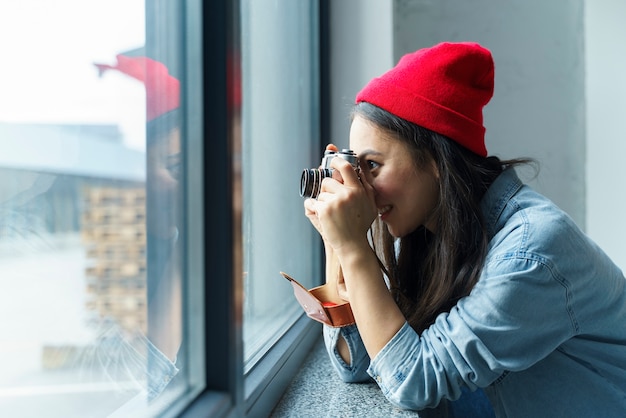
<instances>
[{"instance_id":1,"label":"bright white sky seen through the left window pane","mask_svg":"<svg viewBox=\"0 0 626 418\"><path fill-rule=\"evenodd\" d=\"M117 124L143 149L143 85L93 64L144 42L143 0L0 1L0 123Z\"/></svg>"}]
</instances>

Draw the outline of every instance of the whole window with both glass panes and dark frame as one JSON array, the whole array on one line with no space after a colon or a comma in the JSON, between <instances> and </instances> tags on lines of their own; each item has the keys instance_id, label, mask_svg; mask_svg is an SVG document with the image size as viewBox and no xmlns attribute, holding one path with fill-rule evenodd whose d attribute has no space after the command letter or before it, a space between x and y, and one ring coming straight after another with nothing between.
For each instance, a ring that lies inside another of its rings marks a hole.
<instances>
[{"instance_id":1,"label":"whole window with both glass panes and dark frame","mask_svg":"<svg viewBox=\"0 0 626 418\"><path fill-rule=\"evenodd\" d=\"M0 4L0 410L257 416L320 336L320 2ZM8 320L7 320L8 319Z\"/></svg>"}]
</instances>

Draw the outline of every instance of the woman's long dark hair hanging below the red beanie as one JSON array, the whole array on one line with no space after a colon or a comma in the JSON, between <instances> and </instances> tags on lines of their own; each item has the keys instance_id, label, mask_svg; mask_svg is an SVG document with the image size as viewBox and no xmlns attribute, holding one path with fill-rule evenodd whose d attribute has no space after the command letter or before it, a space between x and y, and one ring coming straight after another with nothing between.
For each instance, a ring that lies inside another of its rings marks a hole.
<instances>
[{"instance_id":1,"label":"woman's long dark hair hanging below the red beanie","mask_svg":"<svg viewBox=\"0 0 626 418\"><path fill-rule=\"evenodd\" d=\"M468 295L480 277L489 240L480 209L483 195L505 168L530 160L481 157L366 102L354 107L355 116L404 141L417 168L434 161L439 172L436 233L421 226L396 241L378 219L371 229L392 295L407 321L421 332Z\"/></svg>"}]
</instances>

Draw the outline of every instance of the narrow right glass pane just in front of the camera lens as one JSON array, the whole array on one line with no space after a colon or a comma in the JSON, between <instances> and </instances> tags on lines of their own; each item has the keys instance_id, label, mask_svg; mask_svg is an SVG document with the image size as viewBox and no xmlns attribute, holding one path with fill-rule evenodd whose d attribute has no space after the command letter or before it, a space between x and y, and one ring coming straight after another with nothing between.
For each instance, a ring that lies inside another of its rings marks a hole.
<instances>
[{"instance_id":1,"label":"narrow right glass pane just in front of the camera lens","mask_svg":"<svg viewBox=\"0 0 626 418\"><path fill-rule=\"evenodd\" d=\"M319 236L303 215L300 176L319 149L316 1L241 2L244 364L302 315L284 271L320 279Z\"/></svg>"}]
</instances>

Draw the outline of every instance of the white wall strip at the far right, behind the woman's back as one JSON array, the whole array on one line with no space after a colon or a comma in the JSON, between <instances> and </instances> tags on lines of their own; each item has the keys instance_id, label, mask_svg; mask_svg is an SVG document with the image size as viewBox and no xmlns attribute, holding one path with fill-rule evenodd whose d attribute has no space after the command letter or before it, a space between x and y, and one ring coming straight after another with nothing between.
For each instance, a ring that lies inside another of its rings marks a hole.
<instances>
[{"instance_id":1,"label":"white wall strip at the far right, behind the woman's back","mask_svg":"<svg viewBox=\"0 0 626 418\"><path fill-rule=\"evenodd\" d=\"M585 2L587 232L626 270L626 2Z\"/></svg>"}]
</instances>

